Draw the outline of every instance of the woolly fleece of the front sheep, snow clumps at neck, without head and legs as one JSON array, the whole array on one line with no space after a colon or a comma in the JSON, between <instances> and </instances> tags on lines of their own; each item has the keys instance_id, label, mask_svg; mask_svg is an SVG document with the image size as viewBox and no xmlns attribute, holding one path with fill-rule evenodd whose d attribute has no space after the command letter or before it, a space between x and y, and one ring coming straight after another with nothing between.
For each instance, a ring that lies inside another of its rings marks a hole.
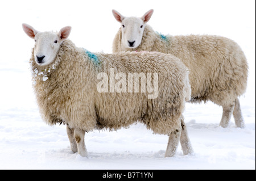
<instances>
[{"instance_id":1,"label":"woolly fleece of the front sheep, snow clumps at neck, without head and legs","mask_svg":"<svg viewBox=\"0 0 256 181\"><path fill-rule=\"evenodd\" d=\"M65 40L52 64L36 64L33 50L30 62L39 110L49 125L64 123L92 131L129 127L141 121L154 133L181 130L185 99L191 90L187 68L170 54L91 53ZM158 97L148 99L147 92L98 92L101 80L97 74L109 75L110 68L115 74L158 73Z\"/></svg>"}]
</instances>

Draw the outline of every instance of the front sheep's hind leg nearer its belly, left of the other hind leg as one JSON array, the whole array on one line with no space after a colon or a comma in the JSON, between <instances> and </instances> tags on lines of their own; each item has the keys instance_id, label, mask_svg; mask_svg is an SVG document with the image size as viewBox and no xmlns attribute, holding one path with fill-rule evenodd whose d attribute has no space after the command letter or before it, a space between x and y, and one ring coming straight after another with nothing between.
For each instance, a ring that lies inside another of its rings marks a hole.
<instances>
[{"instance_id":1,"label":"front sheep's hind leg nearer its belly, left of the other hind leg","mask_svg":"<svg viewBox=\"0 0 256 181\"><path fill-rule=\"evenodd\" d=\"M164 155L164 157L174 157L177 150L177 146L179 145L180 135L181 129L176 129L175 132L172 132L169 135L166 154Z\"/></svg>"}]
</instances>

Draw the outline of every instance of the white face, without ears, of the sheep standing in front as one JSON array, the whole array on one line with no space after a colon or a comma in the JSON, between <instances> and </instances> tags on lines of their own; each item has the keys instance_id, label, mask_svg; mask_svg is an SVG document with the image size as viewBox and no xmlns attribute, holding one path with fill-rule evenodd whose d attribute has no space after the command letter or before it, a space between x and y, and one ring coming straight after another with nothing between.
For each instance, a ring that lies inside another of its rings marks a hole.
<instances>
[{"instance_id":1,"label":"white face, without ears, of the sheep standing in front","mask_svg":"<svg viewBox=\"0 0 256 181\"><path fill-rule=\"evenodd\" d=\"M60 49L60 37L52 32L39 32L35 35L34 56L36 64L51 64Z\"/></svg>"}]
</instances>

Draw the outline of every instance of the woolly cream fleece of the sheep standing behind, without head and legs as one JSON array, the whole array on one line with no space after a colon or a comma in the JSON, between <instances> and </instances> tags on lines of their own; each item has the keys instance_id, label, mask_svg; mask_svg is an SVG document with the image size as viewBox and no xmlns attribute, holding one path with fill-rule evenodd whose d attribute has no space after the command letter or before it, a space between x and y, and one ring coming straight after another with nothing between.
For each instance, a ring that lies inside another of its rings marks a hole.
<instances>
[{"instance_id":1,"label":"woolly cream fleece of the sheep standing behind, without head and legs","mask_svg":"<svg viewBox=\"0 0 256 181\"><path fill-rule=\"evenodd\" d=\"M113 52L156 51L169 53L189 69L191 102L212 102L229 106L247 86L248 65L245 54L233 40L221 36L162 35L146 24L142 42L136 49L122 48L121 28L113 41Z\"/></svg>"}]
</instances>

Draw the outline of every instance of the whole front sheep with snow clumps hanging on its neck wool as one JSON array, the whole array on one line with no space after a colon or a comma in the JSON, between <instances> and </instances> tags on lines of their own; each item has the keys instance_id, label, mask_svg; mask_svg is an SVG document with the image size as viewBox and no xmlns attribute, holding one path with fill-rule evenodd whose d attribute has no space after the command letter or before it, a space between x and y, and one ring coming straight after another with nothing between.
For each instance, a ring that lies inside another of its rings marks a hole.
<instances>
[{"instance_id":1,"label":"whole front sheep with snow clumps hanging on its neck wool","mask_svg":"<svg viewBox=\"0 0 256 181\"><path fill-rule=\"evenodd\" d=\"M88 155L85 132L128 128L137 121L168 134L165 157L175 155L179 140L184 155L193 153L182 115L191 94L188 70L178 58L159 52L92 53L68 39L71 27L57 33L22 27L36 41L30 64L42 119L67 124L74 153Z\"/></svg>"}]
</instances>

